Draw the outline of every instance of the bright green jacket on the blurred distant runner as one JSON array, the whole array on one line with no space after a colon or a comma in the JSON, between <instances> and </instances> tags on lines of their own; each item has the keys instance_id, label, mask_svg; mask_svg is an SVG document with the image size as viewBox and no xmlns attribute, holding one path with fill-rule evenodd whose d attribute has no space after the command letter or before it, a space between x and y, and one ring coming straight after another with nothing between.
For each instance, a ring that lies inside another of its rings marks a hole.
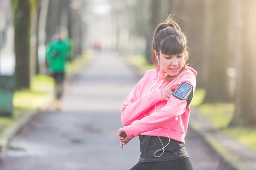
<instances>
[{"instance_id":1,"label":"bright green jacket on the blurred distant runner","mask_svg":"<svg viewBox=\"0 0 256 170\"><path fill-rule=\"evenodd\" d=\"M72 55L71 41L52 39L46 47L46 58L50 72L64 72Z\"/></svg>"}]
</instances>

